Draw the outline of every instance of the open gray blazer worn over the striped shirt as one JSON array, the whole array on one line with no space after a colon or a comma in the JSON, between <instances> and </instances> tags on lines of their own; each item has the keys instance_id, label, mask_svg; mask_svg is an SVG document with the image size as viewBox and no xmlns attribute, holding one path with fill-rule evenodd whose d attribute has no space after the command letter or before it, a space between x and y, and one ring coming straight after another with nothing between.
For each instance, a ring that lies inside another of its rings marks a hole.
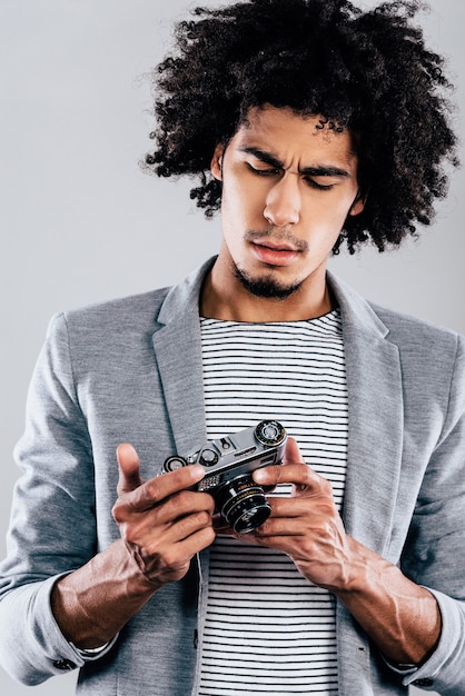
<instances>
[{"instance_id":1,"label":"open gray blazer worn over the striped shirt","mask_svg":"<svg viewBox=\"0 0 465 696\"><path fill-rule=\"evenodd\" d=\"M119 443L142 475L206 439L198 298L211 259L171 289L57 316L16 456L8 558L0 566L0 659L37 684L81 667L92 696L196 695L208 551L165 587L102 657L85 662L50 610L57 577L118 538ZM328 276L343 316L349 395L348 534L436 595L443 633L404 684L465 694L464 339L374 307ZM340 696L405 694L399 675L337 606Z\"/></svg>"}]
</instances>

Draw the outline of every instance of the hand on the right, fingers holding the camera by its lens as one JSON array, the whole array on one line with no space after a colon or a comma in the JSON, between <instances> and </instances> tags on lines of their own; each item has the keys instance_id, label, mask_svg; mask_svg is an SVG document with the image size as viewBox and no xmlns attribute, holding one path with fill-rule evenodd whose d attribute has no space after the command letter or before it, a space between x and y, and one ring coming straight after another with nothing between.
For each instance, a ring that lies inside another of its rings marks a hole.
<instances>
[{"instance_id":1,"label":"hand on the right, fingers holding the camera by its lens","mask_svg":"<svg viewBox=\"0 0 465 696\"><path fill-rule=\"evenodd\" d=\"M345 587L349 537L329 481L305 464L297 443L289 438L283 465L257 469L254 479L263 486L294 484L294 493L290 498L268 498L271 515L247 540L284 551L315 585L333 591Z\"/></svg>"}]
</instances>

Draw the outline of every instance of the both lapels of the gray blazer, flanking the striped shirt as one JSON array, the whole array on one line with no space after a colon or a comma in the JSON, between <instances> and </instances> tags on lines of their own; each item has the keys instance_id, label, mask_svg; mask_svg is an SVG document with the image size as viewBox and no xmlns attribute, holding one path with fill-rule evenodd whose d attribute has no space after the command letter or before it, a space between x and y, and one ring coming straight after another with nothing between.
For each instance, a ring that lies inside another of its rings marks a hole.
<instances>
[{"instance_id":1,"label":"both lapels of the gray blazer, flanking the striped shirt","mask_svg":"<svg viewBox=\"0 0 465 696\"><path fill-rule=\"evenodd\" d=\"M215 258L168 292L154 348L177 451L207 439L199 294ZM348 388L348 461L343 517L348 534L379 554L389 541L399 481L403 398L398 348L374 308L333 274Z\"/></svg>"}]
</instances>

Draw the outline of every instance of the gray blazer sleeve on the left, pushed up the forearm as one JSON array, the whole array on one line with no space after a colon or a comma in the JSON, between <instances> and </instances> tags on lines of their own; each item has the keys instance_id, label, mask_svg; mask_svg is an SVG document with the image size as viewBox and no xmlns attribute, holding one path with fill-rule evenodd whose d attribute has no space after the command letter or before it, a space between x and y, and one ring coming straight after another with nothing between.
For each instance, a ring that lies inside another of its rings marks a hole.
<instances>
[{"instance_id":1,"label":"gray blazer sleeve on the left, pushed up the forearm","mask_svg":"<svg viewBox=\"0 0 465 696\"><path fill-rule=\"evenodd\" d=\"M75 391L66 319L57 316L34 369L8 555L0 565L0 660L33 685L83 664L50 608L57 578L96 553L92 449Z\"/></svg>"}]
</instances>

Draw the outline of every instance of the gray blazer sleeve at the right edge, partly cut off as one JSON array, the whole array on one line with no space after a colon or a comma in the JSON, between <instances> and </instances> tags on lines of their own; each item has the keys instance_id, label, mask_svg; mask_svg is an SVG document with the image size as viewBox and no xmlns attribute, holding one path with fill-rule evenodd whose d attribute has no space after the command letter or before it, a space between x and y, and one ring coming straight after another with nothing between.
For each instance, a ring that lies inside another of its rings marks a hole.
<instances>
[{"instance_id":1,"label":"gray blazer sleeve at the right edge, partly cut off","mask_svg":"<svg viewBox=\"0 0 465 696\"><path fill-rule=\"evenodd\" d=\"M444 375L447 380L448 376ZM465 694L465 339L457 337L448 408L431 457L403 556L404 573L436 596L439 644L405 684Z\"/></svg>"}]
</instances>

